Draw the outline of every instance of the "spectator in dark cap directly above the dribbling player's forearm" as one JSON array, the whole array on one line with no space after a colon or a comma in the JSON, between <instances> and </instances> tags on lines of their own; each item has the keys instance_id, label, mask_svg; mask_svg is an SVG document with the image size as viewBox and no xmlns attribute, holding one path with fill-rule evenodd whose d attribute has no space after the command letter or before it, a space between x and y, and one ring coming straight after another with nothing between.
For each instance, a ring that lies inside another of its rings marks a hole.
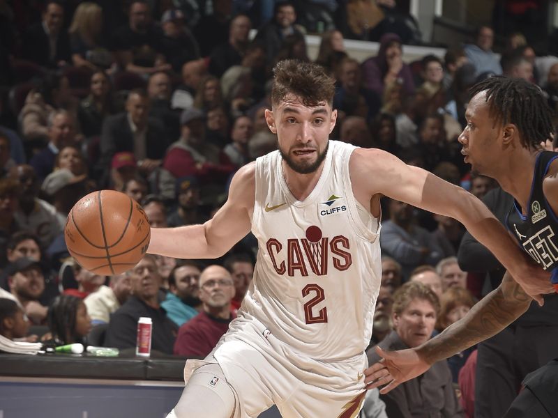
<instances>
[{"instance_id":1,"label":"spectator in dark cap directly above the dribbling player's forearm","mask_svg":"<svg viewBox=\"0 0 558 418\"><path fill-rule=\"evenodd\" d=\"M169 215L168 226L203 224L207 220L199 208L201 201L197 178L181 177L176 180L176 201L178 208Z\"/></svg>"}]
</instances>

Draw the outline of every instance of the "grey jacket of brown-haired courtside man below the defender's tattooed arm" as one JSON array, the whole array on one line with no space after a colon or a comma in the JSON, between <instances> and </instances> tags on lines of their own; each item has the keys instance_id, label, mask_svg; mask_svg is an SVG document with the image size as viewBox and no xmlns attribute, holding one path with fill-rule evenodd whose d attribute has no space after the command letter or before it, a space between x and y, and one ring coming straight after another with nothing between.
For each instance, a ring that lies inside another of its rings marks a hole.
<instances>
[{"instance_id":1,"label":"grey jacket of brown-haired courtside man below the defender's tattooed arm","mask_svg":"<svg viewBox=\"0 0 558 418\"><path fill-rule=\"evenodd\" d=\"M378 344L384 350L409 348L392 331ZM374 348L367 352L368 364L380 357ZM389 418L453 418L464 417L451 382L451 371L445 360L432 364L421 376L395 387L389 394L380 396L386 403Z\"/></svg>"}]
</instances>

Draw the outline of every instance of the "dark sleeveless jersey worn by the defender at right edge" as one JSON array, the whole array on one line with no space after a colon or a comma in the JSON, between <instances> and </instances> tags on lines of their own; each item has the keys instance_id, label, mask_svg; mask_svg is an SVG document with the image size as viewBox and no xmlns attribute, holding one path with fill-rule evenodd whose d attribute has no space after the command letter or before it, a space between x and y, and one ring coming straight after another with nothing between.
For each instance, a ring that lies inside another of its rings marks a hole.
<instances>
[{"instance_id":1,"label":"dark sleeveless jersey worn by the defender at right edge","mask_svg":"<svg viewBox=\"0 0 558 418\"><path fill-rule=\"evenodd\" d=\"M508 213L508 229L521 243L523 249L545 270L552 271L552 284L558 289L558 218L548 205L543 193L543 180L550 163L558 153L543 151L536 158L531 196L529 196L527 215L517 201Z\"/></svg>"}]
</instances>

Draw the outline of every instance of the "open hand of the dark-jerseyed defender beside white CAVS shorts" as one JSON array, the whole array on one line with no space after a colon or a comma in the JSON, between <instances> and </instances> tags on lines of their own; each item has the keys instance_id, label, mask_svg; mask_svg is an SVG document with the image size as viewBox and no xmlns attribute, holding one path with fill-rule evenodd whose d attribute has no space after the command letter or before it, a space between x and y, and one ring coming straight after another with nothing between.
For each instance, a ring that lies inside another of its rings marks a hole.
<instances>
[{"instance_id":1,"label":"open hand of the dark-jerseyed defender beside white CAVS shorts","mask_svg":"<svg viewBox=\"0 0 558 418\"><path fill-rule=\"evenodd\" d=\"M364 383L366 389L386 385L379 391L382 395L430 369L430 364L421 359L416 350L384 351L378 346L375 350L382 359L364 371Z\"/></svg>"}]
</instances>

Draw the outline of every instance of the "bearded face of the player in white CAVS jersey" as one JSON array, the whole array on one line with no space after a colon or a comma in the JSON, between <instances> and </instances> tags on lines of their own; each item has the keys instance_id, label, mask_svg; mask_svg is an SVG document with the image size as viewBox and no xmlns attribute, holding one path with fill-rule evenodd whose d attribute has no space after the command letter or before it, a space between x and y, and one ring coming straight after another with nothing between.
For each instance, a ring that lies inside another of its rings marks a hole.
<instances>
[{"instance_id":1,"label":"bearded face of the player in white CAVS jersey","mask_svg":"<svg viewBox=\"0 0 558 418\"><path fill-rule=\"evenodd\" d=\"M308 107L289 95L272 111L266 109L265 116L269 129L277 134L280 153L289 168L301 174L316 171L326 157L337 111L326 102Z\"/></svg>"}]
</instances>

